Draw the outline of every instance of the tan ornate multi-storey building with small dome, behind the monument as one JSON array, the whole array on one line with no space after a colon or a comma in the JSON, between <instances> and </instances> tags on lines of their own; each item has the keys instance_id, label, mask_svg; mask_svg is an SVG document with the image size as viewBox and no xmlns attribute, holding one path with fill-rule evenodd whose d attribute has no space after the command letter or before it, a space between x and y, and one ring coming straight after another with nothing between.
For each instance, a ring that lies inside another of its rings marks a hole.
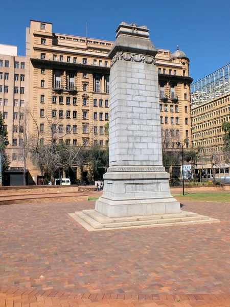
<instances>
[{"instance_id":1,"label":"tan ornate multi-storey building with small dome, behind the monument","mask_svg":"<svg viewBox=\"0 0 230 307\"><path fill-rule=\"evenodd\" d=\"M30 21L26 35L26 58L30 71L28 110L30 134L39 143L51 135L67 144L105 146L109 119L108 53L113 42L54 33L52 24ZM129 55L130 56L130 55ZM189 59L182 51L171 54L158 49L154 59L159 79L159 108L166 148L189 138L190 83ZM37 183L37 169L29 165Z\"/></svg>"}]
</instances>

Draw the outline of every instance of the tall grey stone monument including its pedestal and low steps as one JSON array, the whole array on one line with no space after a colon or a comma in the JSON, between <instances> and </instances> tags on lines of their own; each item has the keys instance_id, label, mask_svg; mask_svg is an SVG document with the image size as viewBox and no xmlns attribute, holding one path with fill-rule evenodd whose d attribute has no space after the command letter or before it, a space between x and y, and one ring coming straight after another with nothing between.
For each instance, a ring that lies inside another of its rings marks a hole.
<instances>
[{"instance_id":1,"label":"tall grey stone monument including its pedestal and low steps","mask_svg":"<svg viewBox=\"0 0 230 307\"><path fill-rule=\"evenodd\" d=\"M108 57L109 168L95 210L71 214L88 230L219 222L181 211L162 164L157 49L149 29L121 23Z\"/></svg>"}]
</instances>

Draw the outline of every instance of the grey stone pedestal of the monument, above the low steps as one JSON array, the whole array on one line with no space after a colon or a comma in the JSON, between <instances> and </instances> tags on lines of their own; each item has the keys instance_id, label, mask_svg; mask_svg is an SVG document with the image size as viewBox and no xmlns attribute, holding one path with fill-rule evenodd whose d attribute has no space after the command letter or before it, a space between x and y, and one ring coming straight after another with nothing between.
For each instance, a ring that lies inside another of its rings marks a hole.
<instances>
[{"instance_id":1,"label":"grey stone pedestal of the monument, above the low steps","mask_svg":"<svg viewBox=\"0 0 230 307\"><path fill-rule=\"evenodd\" d=\"M164 167L123 171L126 169L131 168L109 167L104 175L103 195L96 201L96 211L108 217L181 212L179 202L170 193L169 174Z\"/></svg>"}]
</instances>

